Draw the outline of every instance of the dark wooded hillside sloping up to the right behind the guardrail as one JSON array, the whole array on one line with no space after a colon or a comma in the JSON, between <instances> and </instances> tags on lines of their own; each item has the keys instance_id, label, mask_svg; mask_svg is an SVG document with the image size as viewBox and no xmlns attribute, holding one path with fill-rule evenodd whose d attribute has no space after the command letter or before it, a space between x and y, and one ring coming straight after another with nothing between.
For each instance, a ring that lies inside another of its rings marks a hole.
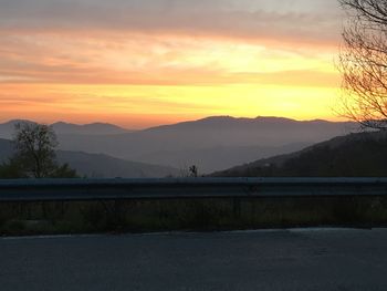
<instances>
[{"instance_id":1,"label":"dark wooded hillside sloping up to the right behind the guardrail","mask_svg":"<svg viewBox=\"0 0 387 291\"><path fill-rule=\"evenodd\" d=\"M387 176L387 133L335 137L287 155L215 173L215 177L369 177Z\"/></svg>"}]
</instances>

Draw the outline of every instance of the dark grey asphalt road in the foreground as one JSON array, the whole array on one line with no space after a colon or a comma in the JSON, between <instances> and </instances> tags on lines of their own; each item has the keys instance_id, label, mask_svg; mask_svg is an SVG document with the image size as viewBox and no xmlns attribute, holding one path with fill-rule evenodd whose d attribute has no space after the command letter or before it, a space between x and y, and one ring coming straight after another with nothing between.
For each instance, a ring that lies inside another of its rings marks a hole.
<instances>
[{"instance_id":1,"label":"dark grey asphalt road in the foreground","mask_svg":"<svg viewBox=\"0 0 387 291\"><path fill-rule=\"evenodd\" d=\"M387 229L0 239L0 290L387 290Z\"/></svg>"}]
</instances>

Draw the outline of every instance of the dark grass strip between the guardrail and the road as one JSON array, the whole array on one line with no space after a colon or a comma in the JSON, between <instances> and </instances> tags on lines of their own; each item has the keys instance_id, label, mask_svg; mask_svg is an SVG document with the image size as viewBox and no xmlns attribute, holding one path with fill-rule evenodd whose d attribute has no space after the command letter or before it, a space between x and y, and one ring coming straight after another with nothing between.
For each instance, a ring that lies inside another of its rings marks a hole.
<instances>
[{"instance_id":1,"label":"dark grass strip between the guardrail and the road","mask_svg":"<svg viewBox=\"0 0 387 291\"><path fill-rule=\"evenodd\" d=\"M387 198L250 198L8 202L0 235L385 227Z\"/></svg>"}]
</instances>

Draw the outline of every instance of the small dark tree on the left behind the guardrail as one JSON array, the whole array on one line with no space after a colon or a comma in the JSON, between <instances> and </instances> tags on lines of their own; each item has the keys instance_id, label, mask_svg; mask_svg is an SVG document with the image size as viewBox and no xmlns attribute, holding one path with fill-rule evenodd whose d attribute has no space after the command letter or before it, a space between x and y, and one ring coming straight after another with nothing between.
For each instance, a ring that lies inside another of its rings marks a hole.
<instances>
[{"instance_id":1,"label":"small dark tree on the left behind the guardrail","mask_svg":"<svg viewBox=\"0 0 387 291\"><path fill-rule=\"evenodd\" d=\"M17 160L34 178L51 176L56 169L56 135L52 127L33 123L18 123L13 136Z\"/></svg>"}]
</instances>

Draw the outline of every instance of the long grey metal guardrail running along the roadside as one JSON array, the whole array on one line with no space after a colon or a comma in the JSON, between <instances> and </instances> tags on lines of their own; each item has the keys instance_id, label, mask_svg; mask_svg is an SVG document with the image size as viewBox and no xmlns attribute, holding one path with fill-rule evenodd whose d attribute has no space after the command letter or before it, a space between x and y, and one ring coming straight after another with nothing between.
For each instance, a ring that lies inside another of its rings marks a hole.
<instances>
[{"instance_id":1,"label":"long grey metal guardrail running along the roadside","mask_svg":"<svg viewBox=\"0 0 387 291\"><path fill-rule=\"evenodd\" d=\"M387 178L0 180L0 201L386 196Z\"/></svg>"}]
</instances>

